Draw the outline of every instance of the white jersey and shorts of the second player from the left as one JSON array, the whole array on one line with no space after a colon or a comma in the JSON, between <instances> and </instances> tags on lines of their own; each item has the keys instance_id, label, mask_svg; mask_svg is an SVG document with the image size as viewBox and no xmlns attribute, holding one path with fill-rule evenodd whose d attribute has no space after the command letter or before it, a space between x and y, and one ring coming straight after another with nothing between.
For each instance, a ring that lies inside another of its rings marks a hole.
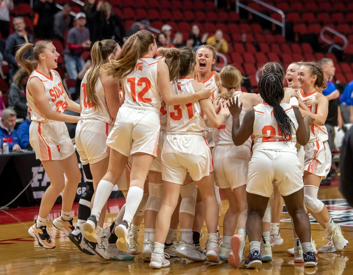
<instances>
[{"instance_id":1,"label":"white jersey and shorts of the second player from the left","mask_svg":"<svg viewBox=\"0 0 353 275\"><path fill-rule=\"evenodd\" d=\"M87 75L81 82L80 105L81 120L76 127L75 143L80 161L83 165L96 163L106 158L110 148L106 145L108 134L113 129L113 118L110 115L106 93L98 77L95 92L100 106L87 100Z\"/></svg>"}]
</instances>

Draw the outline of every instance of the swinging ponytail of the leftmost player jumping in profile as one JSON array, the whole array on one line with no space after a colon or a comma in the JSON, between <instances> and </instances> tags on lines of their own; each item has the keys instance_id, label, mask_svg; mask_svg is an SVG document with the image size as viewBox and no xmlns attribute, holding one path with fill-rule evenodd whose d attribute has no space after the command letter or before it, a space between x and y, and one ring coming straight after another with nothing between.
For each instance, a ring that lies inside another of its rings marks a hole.
<instances>
[{"instance_id":1,"label":"swinging ponytail of the leftmost player jumping in profile","mask_svg":"<svg viewBox=\"0 0 353 275\"><path fill-rule=\"evenodd\" d=\"M44 49L49 43L52 42L41 40L38 41L35 45L32 43L23 44L22 47L17 50L15 55L17 63L20 64L26 70L26 72L28 72L28 74L31 74L38 65L39 55L44 52ZM24 58L24 55L31 49L33 49L33 57L35 60Z\"/></svg>"}]
</instances>

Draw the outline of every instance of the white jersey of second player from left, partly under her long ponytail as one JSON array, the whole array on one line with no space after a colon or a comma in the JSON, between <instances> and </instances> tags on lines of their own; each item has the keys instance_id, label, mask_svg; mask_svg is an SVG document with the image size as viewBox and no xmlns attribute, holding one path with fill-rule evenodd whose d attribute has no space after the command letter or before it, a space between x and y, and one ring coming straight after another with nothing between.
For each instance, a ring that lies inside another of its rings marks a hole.
<instances>
[{"instance_id":1,"label":"white jersey of second player from left, partly under her long ponytail","mask_svg":"<svg viewBox=\"0 0 353 275\"><path fill-rule=\"evenodd\" d=\"M91 69L90 69L91 70ZM95 106L94 103L87 101L87 75L88 70L81 82L80 105L81 105L81 119L96 119L105 123L111 124L113 118L109 113L106 100L106 91L103 88L100 78L98 77L95 85L95 93L100 103L100 106Z\"/></svg>"}]
</instances>

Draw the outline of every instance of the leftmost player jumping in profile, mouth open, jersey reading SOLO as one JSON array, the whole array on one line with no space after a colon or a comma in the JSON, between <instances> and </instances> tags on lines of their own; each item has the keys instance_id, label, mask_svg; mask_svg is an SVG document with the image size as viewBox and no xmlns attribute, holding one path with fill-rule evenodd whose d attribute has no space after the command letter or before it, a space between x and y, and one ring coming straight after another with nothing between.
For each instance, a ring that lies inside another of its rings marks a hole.
<instances>
[{"instance_id":1,"label":"leftmost player jumping in profile, mouth open, jersey reading SOLO","mask_svg":"<svg viewBox=\"0 0 353 275\"><path fill-rule=\"evenodd\" d=\"M34 60L24 59L24 54L31 49ZM30 74L26 88L32 120L30 144L50 179L50 186L42 197L38 219L28 233L46 249L55 248L46 224L60 192L61 216L53 221L53 225L66 236L74 230L71 208L81 180L75 149L64 123L76 123L79 117L62 114L66 109L79 113L80 106L68 98L59 73L53 70L58 67L58 57L59 53L50 41L38 41L35 45L26 43L16 53L16 61Z\"/></svg>"}]
</instances>

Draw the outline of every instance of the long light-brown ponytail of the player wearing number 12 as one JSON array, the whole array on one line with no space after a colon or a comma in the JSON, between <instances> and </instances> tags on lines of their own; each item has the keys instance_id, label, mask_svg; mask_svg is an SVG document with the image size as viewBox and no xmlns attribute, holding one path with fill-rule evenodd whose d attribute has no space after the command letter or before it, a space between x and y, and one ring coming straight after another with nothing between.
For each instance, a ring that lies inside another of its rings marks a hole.
<instances>
[{"instance_id":1,"label":"long light-brown ponytail of the player wearing number 12","mask_svg":"<svg viewBox=\"0 0 353 275\"><path fill-rule=\"evenodd\" d=\"M104 66L107 76L113 76L119 81L127 77L135 69L137 60L147 53L149 46L154 43L155 39L150 31L142 30L131 35L117 58L109 60Z\"/></svg>"}]
</instances>

